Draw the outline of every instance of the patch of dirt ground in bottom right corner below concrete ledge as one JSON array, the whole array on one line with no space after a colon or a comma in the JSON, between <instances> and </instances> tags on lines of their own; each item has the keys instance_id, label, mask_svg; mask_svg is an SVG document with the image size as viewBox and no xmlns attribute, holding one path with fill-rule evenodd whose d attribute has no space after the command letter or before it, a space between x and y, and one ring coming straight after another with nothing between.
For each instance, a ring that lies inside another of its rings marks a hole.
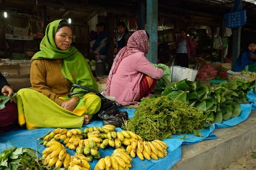
<instances>
[{"instance_id":1,"label":"patch of dirt ground in bottom right corner below concrete ledge","mask_svg":"<svg viewBox=\"0 0 256 170\"><path fill-rule=\"evenodd\" d=\"M256 151L249 151L247 155L232 162L229 166L223 167L219 170L256 170Z\"/></svg>"}]
</instances>

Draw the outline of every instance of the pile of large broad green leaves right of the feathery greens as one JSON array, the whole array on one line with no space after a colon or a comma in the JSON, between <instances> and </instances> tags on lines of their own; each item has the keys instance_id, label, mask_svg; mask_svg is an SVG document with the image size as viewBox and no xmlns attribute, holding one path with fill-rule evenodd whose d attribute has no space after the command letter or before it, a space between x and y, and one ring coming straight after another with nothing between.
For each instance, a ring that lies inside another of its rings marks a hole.
<instances>
[{"instance_id":1,"label":"pile of large broad green leaves right of the feathery greens","mask_svg":"<svg viewBox=\"0 0 256 170\"><path fill-rule=\"evenodd\" d=\"M245 95L253 87L254 82L223 82L217 87L207 87L197 82L182 80L170 84L162 92L171 100L188 102L190 106L204 112L214 122L229 120L239 116L239 102L246 101Z\"/></svg>"}]
</instances>

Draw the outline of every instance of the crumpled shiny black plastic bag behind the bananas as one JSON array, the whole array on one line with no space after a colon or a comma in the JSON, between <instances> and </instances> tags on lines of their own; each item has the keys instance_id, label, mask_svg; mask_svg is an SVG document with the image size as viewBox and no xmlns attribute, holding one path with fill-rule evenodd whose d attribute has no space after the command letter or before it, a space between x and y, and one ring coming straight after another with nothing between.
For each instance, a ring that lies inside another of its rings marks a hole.
<instances>
[{"instance_id":1,"label":"crumpled shiny black plastic bag behind the bananas","mask_svg":"<svg viewBox=\"0 0 256 170\"><path fill-rule=\"evenodd\" d=\"M128 113L120 110L106 110L100 112L98 117L103 120L104 125L111 124L120 128L128 120Z\"/></svg>"}]
</instances>

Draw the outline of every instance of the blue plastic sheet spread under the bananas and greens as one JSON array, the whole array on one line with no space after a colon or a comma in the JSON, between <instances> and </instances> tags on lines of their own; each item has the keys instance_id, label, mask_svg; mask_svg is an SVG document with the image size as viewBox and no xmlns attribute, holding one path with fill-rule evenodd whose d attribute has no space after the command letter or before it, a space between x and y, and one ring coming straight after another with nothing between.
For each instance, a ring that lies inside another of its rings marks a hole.
<instances>
[{"instance_id":1,"label":"blue plastic sheet spread under the bananas and greens","mask_svg":"<svg viewBox=\"0 0 256 170\"><path fill-rule=\"evenodd\" d=\"M227 128L231 126L235 126L243 121L245 121L251 110L255 110L256 108L256 96L253 94L251 90L247 97L251 104L241 104L241 114L236 118L231 118L230 120L223 121L221 124L213 124L209 128L202 129L199 131L203 135L203 137L197 137L193 134L182 134L182 135L173 135L172 139L164 139L164 141L168 144L168 155L163 159L158 160L140 160L138 157L132 159L132 168L131 169L170 169L172 168L180 159L182 159L182 147L181 145L191 145L193 143L198 143L199 141L205 139L216 139L217 136L212 132L215 128ZM134 109L128 108L119 108L122 111L128 112L129 118L134 116ZM92 121L89 125L84 126L82 129L92 126L103 126L101 121ZM116 128L117 131L120 131L120 128ZM40 152L45 149L45 146L39 144L39 140L37 138L43 136L48 131L53 131L53 128L41 128L41 129L15 129L13 131L0 133L0 151L11 147L11 145L16 145L17 147L30 147L32 149L38 150ZM70 155L74 155L74 151L67 149ZM114 148L108 147L107 149L99 149L101 157L105 157L106 155L111 155L114 151ZM92 169L94 169L98 160L93 160L90 165Z\"/></svg>"}]
</instances>

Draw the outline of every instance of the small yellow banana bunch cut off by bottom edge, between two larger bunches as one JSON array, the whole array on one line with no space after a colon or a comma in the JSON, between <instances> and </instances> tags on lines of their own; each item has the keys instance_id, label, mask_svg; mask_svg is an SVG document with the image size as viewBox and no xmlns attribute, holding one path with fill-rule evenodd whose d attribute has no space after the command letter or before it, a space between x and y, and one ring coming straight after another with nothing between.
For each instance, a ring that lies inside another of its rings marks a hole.
<instances>
[{"instance_id":1,"label":"small yellow banana bunch cut off by bottom edge, between two larger bunches","mask_svg":"<svg viewBox=\"0 0 256 170\"><path fill-rule=\"evenodd\" d=\"M86 157L80 153L71 156L68 169L70 170L89 170L90 164L86 161Z\"/></svg>"}]
</instances>

